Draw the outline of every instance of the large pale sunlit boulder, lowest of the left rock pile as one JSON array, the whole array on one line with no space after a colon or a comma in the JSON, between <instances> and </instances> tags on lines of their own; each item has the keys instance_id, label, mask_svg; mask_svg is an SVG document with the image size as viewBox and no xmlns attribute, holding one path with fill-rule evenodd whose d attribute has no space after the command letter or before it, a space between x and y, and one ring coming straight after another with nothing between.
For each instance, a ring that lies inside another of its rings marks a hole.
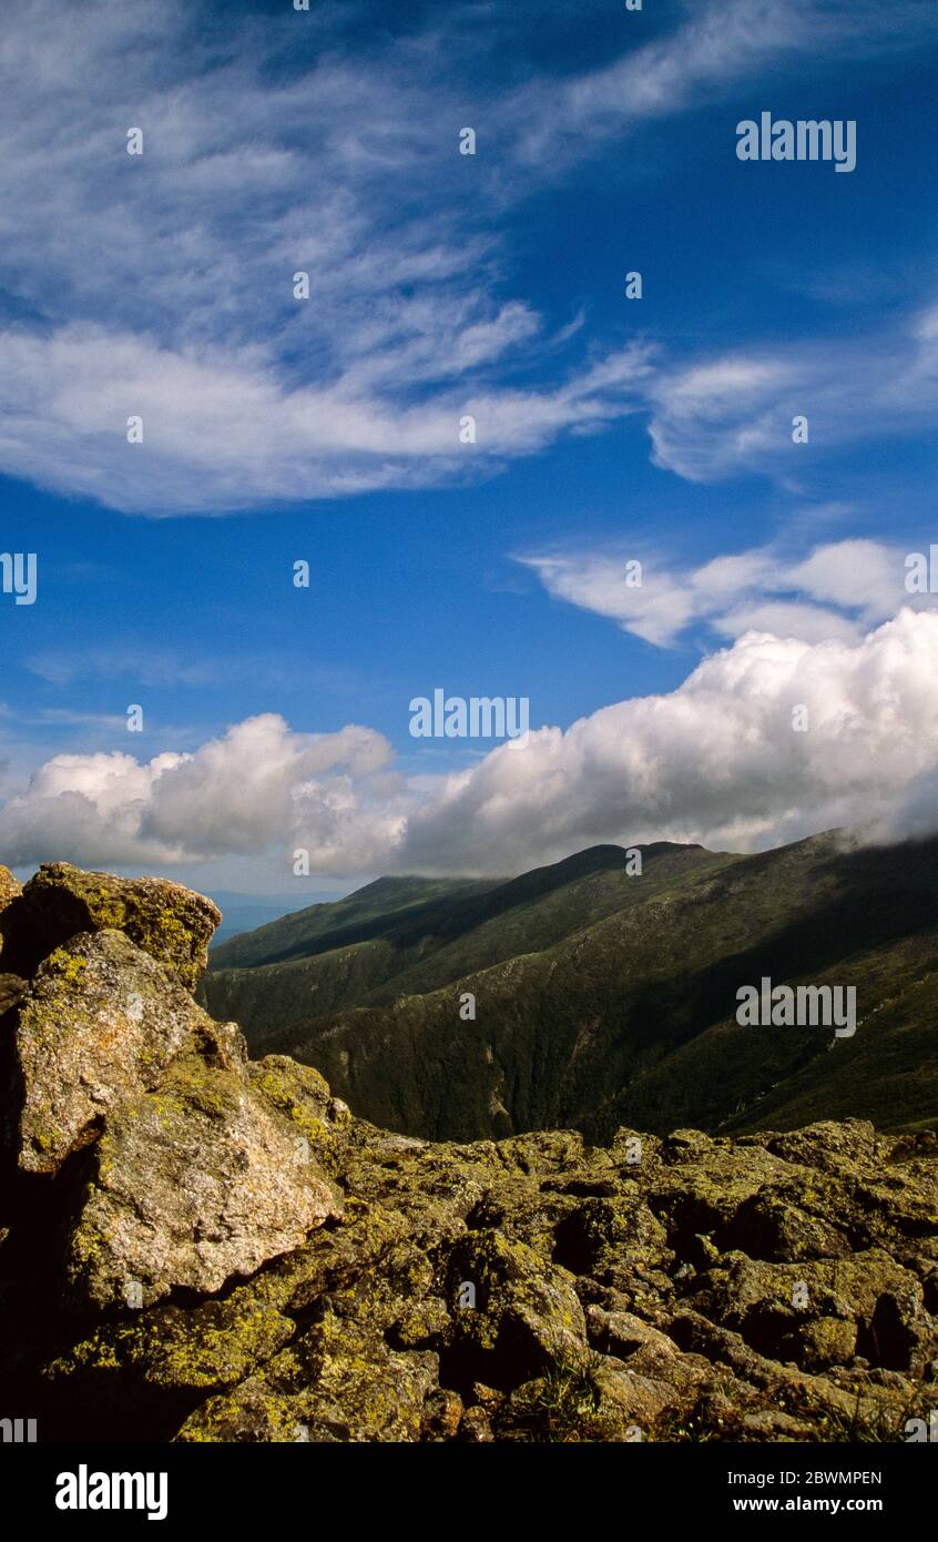
<instances>
[{"instance_id":1,"label":"large pale sunlit boulder, lowest of the left rock pile","mask_svg":"<svg viewBox=\"0 0 938 1542\"><path fill-rule=\"evenodd\" d=\"M308 1143L243 1079L197 1056L106 1115L68 1240L77 1306L213 1292L340 1214Z\"/></svg>"}]
</instances>

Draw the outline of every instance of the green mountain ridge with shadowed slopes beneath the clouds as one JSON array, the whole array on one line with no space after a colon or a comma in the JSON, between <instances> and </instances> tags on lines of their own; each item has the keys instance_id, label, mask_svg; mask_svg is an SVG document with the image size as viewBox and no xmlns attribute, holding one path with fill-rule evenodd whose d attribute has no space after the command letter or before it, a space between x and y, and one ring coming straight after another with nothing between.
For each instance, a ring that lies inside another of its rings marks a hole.
<instances>
[{"instance_id":1,"label":"green mountain ridge with shadowed slopes beneath the clouds","mask_svg":"<svg viewBox=\"0 0 938 1542\"><path fill-rule=\"evenodd\" d=\"M762 978L855 987L856 1033L741 1027L736 992ZM430 1138L935 1127L938 842L659 843L641 876L595 847L514 879L380 879L217 948L202 992L253 1053Z\"/></svg>"}]
</instances>

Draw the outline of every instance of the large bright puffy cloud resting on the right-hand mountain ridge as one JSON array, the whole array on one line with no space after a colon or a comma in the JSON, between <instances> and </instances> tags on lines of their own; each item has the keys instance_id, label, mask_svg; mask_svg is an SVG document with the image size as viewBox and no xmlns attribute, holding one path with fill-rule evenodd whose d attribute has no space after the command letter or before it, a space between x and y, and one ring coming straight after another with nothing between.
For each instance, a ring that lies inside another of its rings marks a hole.
<instances>
[{"instance_id":1,"label":"large bright puffy cloud resting on the right-hand mountain ridge","mask_svg":"<svg viewBox=\"0 0 938 1542\"><path fill-rule=\"evenodd\" d=\"M933 611L904 609L858 643L750 632L670 695L544 728L450 777L411 817L407 856L511 870L605 840L761 850L864 823L938 771L936 668ZM938 825L935 803L916 808L920 831Z\"/></svg>"}]
</instances>

